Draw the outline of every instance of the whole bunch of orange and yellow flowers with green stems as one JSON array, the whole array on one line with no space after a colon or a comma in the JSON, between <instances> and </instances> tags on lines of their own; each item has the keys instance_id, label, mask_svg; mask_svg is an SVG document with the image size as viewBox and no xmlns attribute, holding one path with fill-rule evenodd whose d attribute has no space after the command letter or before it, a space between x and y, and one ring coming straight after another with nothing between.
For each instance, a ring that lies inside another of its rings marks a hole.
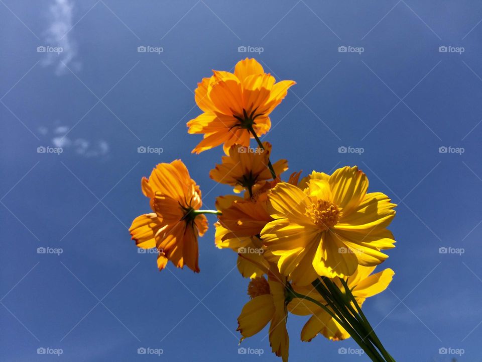
<instances>
[{"instance_id":1,"label":"whole bunch of orange and yellow flowers with green stems","mask_svg":"<svg viewBox=\"0 0 482 362\"><path fill-rule=\"evenodd\" d=\"M272 145L260 137L294 84L276 82L248 58L234 73L203 78L195 90L203 113L187 126L204 138L192 152L222 145L225 155L209 176L234 194L219 196L216 210L202 210L201 191L184 163L159 163L142 178L152 212L133 221L132 239L159 250L159 270L170 260L198 273L198 236L213 214L215 245L236 252L239 273L249 279L250 300L237 318L241 341L269 323L272 351L286 362L291 313L309 316L303 341L318 334L334 341L352 337L372 360L393 362L361 307L392 281L392 269L375 268L388 257L382 250L394 247L387 227L396 205L383 193L368 193L367 175L356 166L332 174L300 171L283 180L287 160L272 163Z\"/></svg>"}]
</instances>

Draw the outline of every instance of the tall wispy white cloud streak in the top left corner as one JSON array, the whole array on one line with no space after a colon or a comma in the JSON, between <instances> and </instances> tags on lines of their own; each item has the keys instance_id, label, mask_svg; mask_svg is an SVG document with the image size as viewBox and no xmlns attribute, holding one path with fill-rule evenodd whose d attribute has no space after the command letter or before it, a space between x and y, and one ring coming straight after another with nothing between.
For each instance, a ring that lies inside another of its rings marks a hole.
<instances>
[{"instance_id":1,"label":"tall wispy white cloud streak in the top left corner","mask_svg":"<svg viewBox=\"0 0 482 362\"><path fill-rule=\"evenodd\" d=\"M72 66L77 70L80 67L79 62L74 62L77 46L70 33L73 9L74 4L70 0L54 0L49 7L49 27L45 32L46 44L42 45L43 50L41 50L45 53L42 64L55 65L57 75L68 72L65 65Z\"/></svg>"}]
</instances>

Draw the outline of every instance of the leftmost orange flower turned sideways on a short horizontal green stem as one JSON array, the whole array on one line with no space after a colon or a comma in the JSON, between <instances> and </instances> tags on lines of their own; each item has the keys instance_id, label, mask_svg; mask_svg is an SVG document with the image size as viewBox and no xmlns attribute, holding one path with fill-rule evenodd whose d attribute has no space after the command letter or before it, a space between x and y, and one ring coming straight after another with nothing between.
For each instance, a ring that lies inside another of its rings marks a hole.
<instances>
[{"instance_id":1,"label":"leftmost orange flower turned sideways on a short horizontal green stem","mask_svg":"<svg viewBox=\"0 0 482 362\"><path fill-rule=\"evenodd\" d=\"M153 213L134 219L129 231L139 247L157 247L159 270L167 261L199 272L198 235L207 231L207 219L196 210L202 205L201 191L184 163L159 163L149 178L143 177L142 192L150 199Z\"/></svg>"}]
</instances>

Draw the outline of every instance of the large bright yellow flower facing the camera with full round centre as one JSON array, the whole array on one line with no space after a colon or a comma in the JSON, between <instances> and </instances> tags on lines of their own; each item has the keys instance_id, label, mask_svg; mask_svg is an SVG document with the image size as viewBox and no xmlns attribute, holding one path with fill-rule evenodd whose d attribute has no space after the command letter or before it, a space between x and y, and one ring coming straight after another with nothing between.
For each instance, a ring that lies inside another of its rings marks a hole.
<instances>
[{"instance_id":1,"label":"large bright yellow flower facing the camera with full round centre","mask_svg":"<svg viewBox=\"0 0 482 362\"><path fill-rule=\"evenodd\" d=\"M396 205L382 193L367 193L365 173L356 166L331 175L313 172L300 187L280 183L271 190L276 220L261 232L265 246L280 257L280 272L293 283L351 276L358 264L374 266L388 257L380 250L394 247L386 227Z\"/></svg>"}]
</instances>

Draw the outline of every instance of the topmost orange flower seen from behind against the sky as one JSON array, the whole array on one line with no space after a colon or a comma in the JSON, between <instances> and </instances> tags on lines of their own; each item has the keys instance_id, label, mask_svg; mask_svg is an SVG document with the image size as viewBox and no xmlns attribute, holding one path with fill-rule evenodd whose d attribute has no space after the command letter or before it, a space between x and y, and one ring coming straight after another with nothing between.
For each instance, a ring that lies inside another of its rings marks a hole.
<instances>
[{"instance_id":1,"label":"topmost orange flower seen from behind against the sky","mask_svg":"<svg viewBox=\"0 0 482 362\"><path fill-rule=\"evenodd\" d=\"M269 114L278 106L295 84L292 80L275 83L255 59L239 61L234 73L213 70L203 78L194 92L198 107L204 112L187 123L191 134L204 134L193 149L200 153L224 144L224 151L237 143L250 145L253 129L258 136L271 127Z\"/></svg>"}]
</instances>

